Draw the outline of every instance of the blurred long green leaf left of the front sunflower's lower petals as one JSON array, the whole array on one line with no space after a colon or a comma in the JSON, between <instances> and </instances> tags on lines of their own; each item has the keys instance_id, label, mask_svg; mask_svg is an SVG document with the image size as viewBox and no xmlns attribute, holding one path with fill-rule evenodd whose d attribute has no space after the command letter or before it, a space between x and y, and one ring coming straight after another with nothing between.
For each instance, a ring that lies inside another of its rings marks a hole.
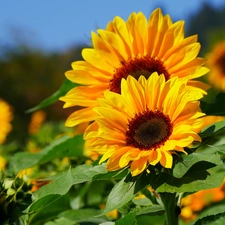
<instances>
[{"instance_id":1,"label":"blurred long green leaf left of the front sunflower's lower petals","mask_svg":"<svg viewBox=\"0 0 225 225\"><path fill-rule=\"evenodd\" d=\"M83 138L81 135L72 138L64 136L53 141L38 153L20 152L15 154L12 157L10 164L17 173L22 169L43 164L56 158L81 156L82 149Z\"/></svg>"}]
</instances>

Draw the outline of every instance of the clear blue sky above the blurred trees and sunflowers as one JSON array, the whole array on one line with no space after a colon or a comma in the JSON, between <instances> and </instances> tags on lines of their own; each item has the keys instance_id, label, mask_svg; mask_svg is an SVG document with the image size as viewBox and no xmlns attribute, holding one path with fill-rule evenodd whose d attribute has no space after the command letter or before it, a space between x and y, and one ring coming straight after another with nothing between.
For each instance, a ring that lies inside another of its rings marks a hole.
<instances>
[{"instance_id":1,"label":"clear blue sky above the blurred trees and sunflowers","mask_svg":"<svg viewBox=\"0 0 225 225\"><path fill-rule=\"evenodd\" d=\"M133 11L146 16L162 7L173 21L186 20L203 2L216 7L224 0L7 0L1 2L0 44L23 40L47 51L89 43L91 31L105 28L116 15L127 19Z\"/></svg>"}]
</instances>

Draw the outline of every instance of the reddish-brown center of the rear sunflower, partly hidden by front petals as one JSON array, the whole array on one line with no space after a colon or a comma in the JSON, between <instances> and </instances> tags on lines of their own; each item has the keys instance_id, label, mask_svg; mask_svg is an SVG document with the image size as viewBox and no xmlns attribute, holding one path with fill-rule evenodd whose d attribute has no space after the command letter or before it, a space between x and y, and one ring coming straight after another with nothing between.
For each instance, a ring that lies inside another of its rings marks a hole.
<instances>
[{"instance_id":1,"label":"reddish-brown center of the rear sunflower, partly hidden by front petals","mask_svg":"<svg viewBox=\"0 0 225 225\"><path fill-rule=\"evenodd\" d=\"M126 79L128 75L132 75L137 80L141 75L148 79L153 72L157 72L159 75L164 74L166 80L170 78L162 61L149 56L130 59L121 64L122 66L116 69L114 76L109 83L109 90L116 93L121 92L121 80L122 78Z\"/></svg>"}]
</instances>

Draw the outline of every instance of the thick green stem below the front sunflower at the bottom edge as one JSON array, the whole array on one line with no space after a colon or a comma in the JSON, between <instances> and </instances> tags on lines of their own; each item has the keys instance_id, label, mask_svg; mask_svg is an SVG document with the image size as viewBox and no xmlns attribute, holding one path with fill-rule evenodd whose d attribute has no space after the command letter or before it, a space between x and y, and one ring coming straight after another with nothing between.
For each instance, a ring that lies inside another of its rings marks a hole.
<instances>
[{"instance_id":1,"label":"thick green stem below the front sunflower at the bottom edge","mask_svg":"<svg viewBox=\"0 0 225 225\"><path fill-rule=\"evenodd\" d=\"M165 208L167 225L178 225L176 193L160 193Z\"/></svg>"}]
</instances>

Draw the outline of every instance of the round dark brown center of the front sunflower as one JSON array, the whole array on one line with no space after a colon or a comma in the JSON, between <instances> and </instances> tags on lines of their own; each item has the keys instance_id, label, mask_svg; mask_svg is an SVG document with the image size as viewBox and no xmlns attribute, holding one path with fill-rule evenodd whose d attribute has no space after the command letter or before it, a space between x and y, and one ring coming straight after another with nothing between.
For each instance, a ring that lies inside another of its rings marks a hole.
<instances>
[{"instance_id":1,"label":"round dark brown center of the front sunflower","mask_svg":"<svg viewBox=\"0 0 225 225\"><path fill-rule=\"evenodd\" d=\"M158 110L146 110L129 121L126 142L128 146L141 150L156 149L168 140L172 131L168 116Z\"/></svg>"}]
</instances>

